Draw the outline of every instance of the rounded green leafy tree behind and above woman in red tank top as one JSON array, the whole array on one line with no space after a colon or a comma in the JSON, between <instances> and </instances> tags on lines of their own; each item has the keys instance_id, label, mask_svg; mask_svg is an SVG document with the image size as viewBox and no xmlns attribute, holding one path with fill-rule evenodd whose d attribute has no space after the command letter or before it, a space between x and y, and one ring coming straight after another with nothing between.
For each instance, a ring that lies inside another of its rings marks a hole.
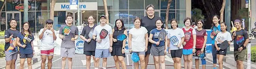
<instances>
[{"instance_id":1,"label":"rounded green leafy tree behind and above woman in red tank top","mask_svg":"<svg viewBox=\"0 0 256 69\"><path fill-rule=\"evenodd\" d=\"M202 14L202 10L195 8L192 9L192 20L193 22L196 22L198 19L204 19L205 16Z\"/></svg>"}]
</instances>

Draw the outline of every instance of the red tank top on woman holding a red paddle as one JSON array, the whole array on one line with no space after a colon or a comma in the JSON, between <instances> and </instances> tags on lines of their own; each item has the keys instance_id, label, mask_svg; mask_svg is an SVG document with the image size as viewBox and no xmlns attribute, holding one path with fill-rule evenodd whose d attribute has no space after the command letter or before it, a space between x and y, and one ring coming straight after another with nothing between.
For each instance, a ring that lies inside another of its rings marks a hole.
<instances>
[{"instance_id":1,"label":"red tank top on woman holding a red paddle","mask_svg":"<svg viewBox=\"0 0 256 69\"><path fill-rule=\"evenodd\" d=\"M193 33L192 33L193 29L190 28L189 30L186 31L185 28L182 28L182 30L183 30L184 33L186 33L186 32L190 33L190 35L185 34L185 39L189 39L189 40L186 42L186 45L183 46L183 49L191 49L191 48L193 48ZM190 36L190 38L186 38L188 36ZM185 42L185 40L184 40L184 42Z\"/></svg>"}]
</instances>

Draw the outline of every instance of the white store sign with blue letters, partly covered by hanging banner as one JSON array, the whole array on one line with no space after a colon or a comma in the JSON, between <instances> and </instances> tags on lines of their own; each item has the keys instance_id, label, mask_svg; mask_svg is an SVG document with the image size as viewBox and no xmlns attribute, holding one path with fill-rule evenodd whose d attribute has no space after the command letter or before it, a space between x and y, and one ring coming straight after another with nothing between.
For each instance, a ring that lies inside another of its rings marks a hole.
<instances>
[{"instance_id":1,"label":"white store sign with blue letters, partly covered by hanging banner","mask_svg":"<svg viewBox=\"0 0 256 69\"><path fill-rule=\"evenodd\" d=\"M98 10L97 2L80 2L80 10ZM70 3L55 3L54 11L70 11Z\"/></svg>"}]
</instances>

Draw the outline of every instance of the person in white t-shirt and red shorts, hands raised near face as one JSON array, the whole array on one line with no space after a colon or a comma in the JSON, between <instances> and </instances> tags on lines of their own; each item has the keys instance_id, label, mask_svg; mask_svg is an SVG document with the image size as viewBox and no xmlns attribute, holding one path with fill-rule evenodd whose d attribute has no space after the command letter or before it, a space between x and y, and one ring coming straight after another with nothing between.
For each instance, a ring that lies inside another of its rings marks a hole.
<instances>
[{"instance_id":1,"label":"person in white t-shirt and red shorts, hands raised near face","mask_svg":"<svg viewBox=\"0 0 256 69\"><path fill-rule=\"evenodd\" d=\"M52 58L54 52L54 41L56 40L56 31L53 30L53 20L46 20L46 24L44 28L39 31L39 39L41 40L41 68L45 68L46 58L48 57L48 69L51 69L52 66Z\"/></svg>"}]
</instances>

